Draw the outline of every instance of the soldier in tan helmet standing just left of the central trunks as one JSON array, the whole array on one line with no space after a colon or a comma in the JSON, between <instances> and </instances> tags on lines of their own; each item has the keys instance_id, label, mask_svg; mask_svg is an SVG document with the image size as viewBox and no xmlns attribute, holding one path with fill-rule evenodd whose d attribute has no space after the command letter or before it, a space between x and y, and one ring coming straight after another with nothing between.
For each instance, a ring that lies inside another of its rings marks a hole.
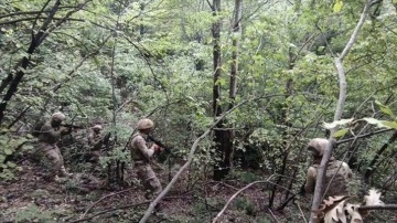
<instances>
[{"instance_id":1,"label":"soldier in tan helmet standing just left of the central trunks","mask_svg":"<svg viewBox=\"0 0 397 223\"><path fill-rule=\"evenodd\" d=\"M137 125L138 132L132 136L129 145L138 177L147 190L147 199L151 199L151 197L158 195L162 191L160 180L150 166L150 159L153 155L163 150L163 148L155 144L150 144L148 140L148 135L153 126L152 120L148 118L140 119Z\"/></svg>"}]
</instances>

